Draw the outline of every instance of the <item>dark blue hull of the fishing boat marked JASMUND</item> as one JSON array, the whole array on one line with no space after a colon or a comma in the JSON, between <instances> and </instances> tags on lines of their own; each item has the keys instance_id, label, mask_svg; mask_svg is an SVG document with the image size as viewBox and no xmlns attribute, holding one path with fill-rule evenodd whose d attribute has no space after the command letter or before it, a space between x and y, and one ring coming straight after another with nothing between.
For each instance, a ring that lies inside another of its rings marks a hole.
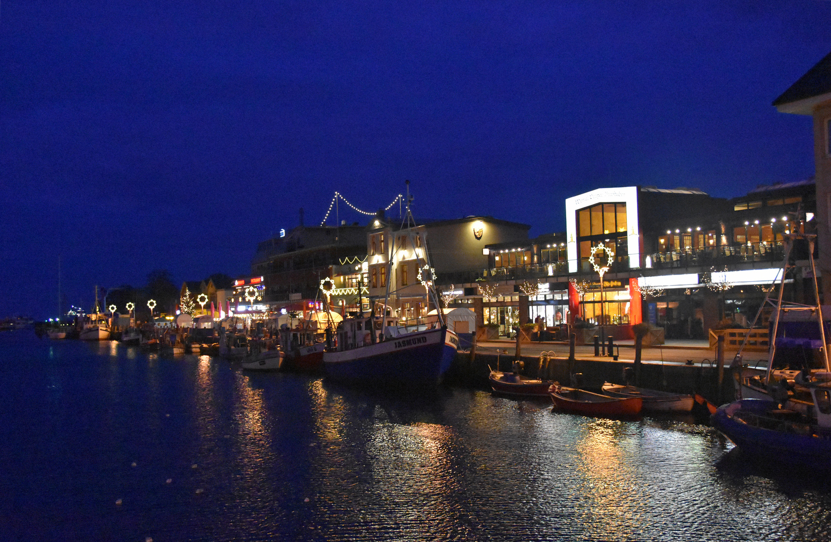
<instances>
[{"instance_id":1,"label":"dark blue hull of the fishing boat marked JASMUND","mask_svg":"<svg viewBox=\"0 0 831 542\"><path fill-rule=\"evenodd\" d=\"M327 377L339 382L440 382L455 358L459 339L443 328L388 338L352 350L324 352Z\"/></svg>"}]
</instances>

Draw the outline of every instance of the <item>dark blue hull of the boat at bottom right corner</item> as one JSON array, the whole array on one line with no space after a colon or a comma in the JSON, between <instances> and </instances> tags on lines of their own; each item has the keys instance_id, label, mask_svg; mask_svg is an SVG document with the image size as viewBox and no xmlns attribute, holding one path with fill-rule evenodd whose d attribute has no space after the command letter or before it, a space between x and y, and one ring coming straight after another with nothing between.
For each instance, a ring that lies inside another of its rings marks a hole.
<instances>
[{"instance_id":1,"label":"dark blue hull of the boat at bottom right corner","mask_svg":"<svg viewBox=\"0 0 831 542\"><path fill-rule=\"evenodd\" d=\"M831 468L831 438L828 435L814 436L815 433L799 435L784 431L773 431L753 426L736 419L744 411L763 415L776 410L779 404L763 399L740 399L719 406L711 416L713 426L730 439L742 453L762 461L799 462L828 470Z\"/></svg>"}]
</instances>

